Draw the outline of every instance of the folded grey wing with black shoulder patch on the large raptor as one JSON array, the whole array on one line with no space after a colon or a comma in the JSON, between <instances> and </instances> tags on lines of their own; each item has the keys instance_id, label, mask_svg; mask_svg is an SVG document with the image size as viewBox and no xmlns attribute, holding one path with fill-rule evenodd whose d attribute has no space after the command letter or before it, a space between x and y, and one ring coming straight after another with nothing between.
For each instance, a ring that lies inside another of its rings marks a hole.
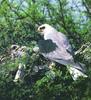
<instances>
[{"instance_id":1,"label":"folded grey wing with black shoulder patch on the large raptor","mask_svg":"<svg viewBox=\"0 0 91 100\"><path fill-rule=\"evenodd\" d=\"M59 48L52 40L41 40L38 42L41 54L52 61L63 65L73 65L74 68L82 70L79 65L74 63L72 55L65 49Z\"/></svg>"}]
</instances>

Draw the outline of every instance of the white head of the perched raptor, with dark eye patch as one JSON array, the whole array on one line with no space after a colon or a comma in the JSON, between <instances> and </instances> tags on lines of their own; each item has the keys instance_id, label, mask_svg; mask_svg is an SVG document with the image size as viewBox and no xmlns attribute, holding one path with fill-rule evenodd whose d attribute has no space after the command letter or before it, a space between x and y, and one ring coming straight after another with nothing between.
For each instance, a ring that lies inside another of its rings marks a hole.
<instances>
[{"instance_id":1,"label":"white head of the perched raptor, with dark eye patch","mask_svg":"<svg viewBox=\"0 0 91 100\"><path fill-rule=\"evenodd\" d=\"M38 27L38 32L44 36L54 33L55 31L56 31L56 29L53 28L52 26L50 26L49 24L42 24L41 26Z\"/></svg>"}]
</instances>

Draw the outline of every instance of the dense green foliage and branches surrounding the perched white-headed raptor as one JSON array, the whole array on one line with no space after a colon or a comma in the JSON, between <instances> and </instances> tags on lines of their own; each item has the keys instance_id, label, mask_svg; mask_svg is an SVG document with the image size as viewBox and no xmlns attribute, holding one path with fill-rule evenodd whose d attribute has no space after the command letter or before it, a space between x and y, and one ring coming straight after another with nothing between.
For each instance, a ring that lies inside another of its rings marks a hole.
<instances>
[{"instance_id":1,"label":"dense green foliage and branches surrounding the perched white-headed raptor","mask_svg":"<svg viewBox=\"0 0 91 100\"><path fill-rule=\"evenodd\" d=\"M41 38L38 25L48 23L66 34L75 59L86 65L87 79L73 81L66 67L33 52ZM0 0L0 100L90 100L91 99L91 1L90 0ZM22 59L10 58L10 46L29 48ZM15 83L18 64L25 75ZM35 71L36 66L46 67Z\"/></svg>"}]
</instances>

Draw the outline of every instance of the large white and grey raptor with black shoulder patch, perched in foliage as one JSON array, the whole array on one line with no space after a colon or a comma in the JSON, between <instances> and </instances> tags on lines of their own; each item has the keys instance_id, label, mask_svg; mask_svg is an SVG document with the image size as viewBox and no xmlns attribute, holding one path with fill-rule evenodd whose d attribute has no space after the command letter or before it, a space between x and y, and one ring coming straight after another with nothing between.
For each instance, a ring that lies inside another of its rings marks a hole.
<instances>
[{"instance_id":1,"label":"large white and grey raptor with black shoulder patch, perched in foliage","mask_svg":"<svg viewBox=\"0 0 91 100\"><path fill-rule=\"evenodd\" d=\"M39 49L44 57L67 66L73 80L79 76L87 77L84 67L74 61L72 47L63 33L49 24L39 26L38 32L44 39L39 41Z\"/></svg>"}]
</instances>

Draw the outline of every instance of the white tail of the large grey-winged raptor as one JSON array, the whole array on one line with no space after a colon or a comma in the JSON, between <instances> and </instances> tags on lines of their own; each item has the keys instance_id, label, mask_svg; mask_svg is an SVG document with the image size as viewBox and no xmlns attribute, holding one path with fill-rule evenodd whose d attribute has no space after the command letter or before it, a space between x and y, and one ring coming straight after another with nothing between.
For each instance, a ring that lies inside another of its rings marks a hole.
<instances>
[{"instance_id":1,"label":"white tail of the large grey-winged raptor","mask_svg":"<svg viewBox=\"0 0 91 100\"><path fill-rule=\"evenodd\" d=\"M72 75L73 80L77 80L79 77L88 77L84 73L84 69L81 68L81 65L76 63L72 65L67 65L67 69Z\"/></svg>"}]
</instances>

